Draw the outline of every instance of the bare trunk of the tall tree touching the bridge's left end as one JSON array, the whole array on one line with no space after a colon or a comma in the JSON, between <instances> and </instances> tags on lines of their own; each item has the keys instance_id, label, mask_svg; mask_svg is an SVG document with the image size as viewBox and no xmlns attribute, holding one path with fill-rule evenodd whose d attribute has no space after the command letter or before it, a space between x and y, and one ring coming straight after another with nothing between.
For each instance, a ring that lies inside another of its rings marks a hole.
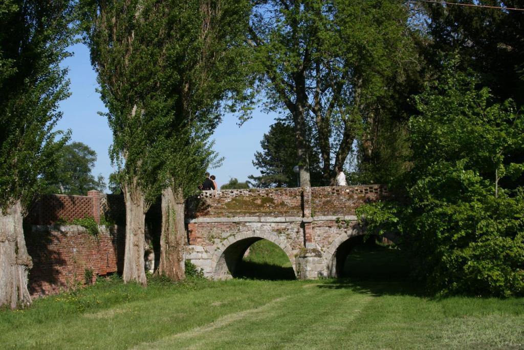
<instances>
[{"instance_id":1,"label":"bare trunk of the tall tree touching the bridge's left end","mask_svg":"<svg viewBox=\"0 0 524 350\"><path fill-rule=\"evenodd\" d=\"M160 236L159 273L171 280L185 278L183 246L185 244L184 197L182 188L170 186L162 192L162 234Z\"/></svg>"}]
</instances>

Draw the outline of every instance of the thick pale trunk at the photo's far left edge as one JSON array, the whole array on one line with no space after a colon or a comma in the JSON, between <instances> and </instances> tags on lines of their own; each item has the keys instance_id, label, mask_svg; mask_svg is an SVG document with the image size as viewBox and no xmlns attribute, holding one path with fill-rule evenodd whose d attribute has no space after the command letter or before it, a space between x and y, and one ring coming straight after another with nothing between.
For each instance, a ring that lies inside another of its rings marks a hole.
<instances>
[{"instance_id":1,"label":"thick pale trunk at the photo's far left edge","mask_svg":"<svg viewBox=\"0 0 524 350\"><path fill-rule=\"evenodd\" d=\"M0 306L9 305L11 309L31 304L27 274L32 261L26 249L22 219L19 200L5 211L0 209Z\"/></svg>"}]
</instances>

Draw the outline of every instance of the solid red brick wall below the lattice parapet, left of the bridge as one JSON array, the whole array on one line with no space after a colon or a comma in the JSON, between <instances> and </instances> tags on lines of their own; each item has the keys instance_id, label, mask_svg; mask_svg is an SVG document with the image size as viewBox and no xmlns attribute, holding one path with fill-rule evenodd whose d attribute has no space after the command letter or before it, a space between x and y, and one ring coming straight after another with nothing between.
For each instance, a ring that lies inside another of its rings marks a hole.
<instances>
[{"instance_id":1,"label":"solid red brick wall below the lattice parapet, left of the bridge","mask_svg":"<svg viewBox=\"0 0 524 350\"><path fill-rule=\"evenodd\" d=\"M125 229L104 229L98 238L81 226L32 226L26 245L33 259L29 292L33 296L57 293L85 283L85 270L93 275L121 271ZM91 281L93 282L93 281Z\"/></svg>"}]
</instances>

